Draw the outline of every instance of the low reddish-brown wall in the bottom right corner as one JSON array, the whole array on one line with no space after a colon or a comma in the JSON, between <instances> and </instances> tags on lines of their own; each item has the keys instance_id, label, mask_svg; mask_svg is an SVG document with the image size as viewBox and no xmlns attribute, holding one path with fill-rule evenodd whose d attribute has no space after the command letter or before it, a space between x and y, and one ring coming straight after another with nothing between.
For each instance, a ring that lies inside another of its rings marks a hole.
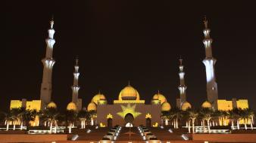
<instances>
[{"instance_id":1,"label":"low reddish-brown wall in the bottom right corner","mask_svg":"<svg viewBox=\"0 0 256 143\"><path fill-rule=\"evenodd\" d=\"M192 134L194 141L256 142L256 134Z\"/></svg>"}]
</instances>

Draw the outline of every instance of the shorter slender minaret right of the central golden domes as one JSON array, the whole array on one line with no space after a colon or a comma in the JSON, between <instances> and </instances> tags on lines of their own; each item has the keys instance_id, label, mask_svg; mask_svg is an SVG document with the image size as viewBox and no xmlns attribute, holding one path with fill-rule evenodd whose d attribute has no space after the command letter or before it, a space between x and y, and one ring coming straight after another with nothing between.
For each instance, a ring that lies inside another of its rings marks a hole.
<instances>
[{"instance_id":1,"label":"shorter slender minaret right of the central golden domes","mask_svg":"<svg viewBox=\"0 0 256 143\"><path fill-rule=\"evenodd\" d=\"M183 66L183 59L180 58L180 86L178 89L180 90L180 104L183 104L183 102L186 102L186 85L185 85L185 72L183 71L184 66Z\"/></svg>"}]
</instances>

